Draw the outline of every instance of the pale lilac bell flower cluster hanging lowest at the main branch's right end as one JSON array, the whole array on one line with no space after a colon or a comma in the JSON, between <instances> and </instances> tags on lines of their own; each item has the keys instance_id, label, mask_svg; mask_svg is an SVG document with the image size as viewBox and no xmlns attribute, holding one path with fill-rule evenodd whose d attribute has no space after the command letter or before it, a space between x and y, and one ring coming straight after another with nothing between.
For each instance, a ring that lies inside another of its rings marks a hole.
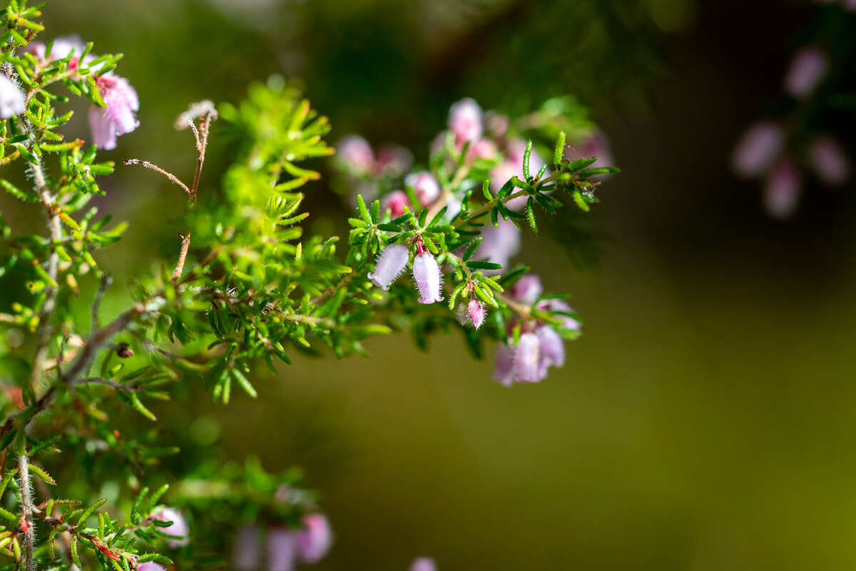
<instances>
[{"instance_id":1,"label":"pale lilac bell flower cluster hanging lowest at the main branch's right end","mask_svg":"<svg viewBox=\"0 0 856 571\"><path fill-rule=\"evenodd\" d=\"M574 310L563 300L550 298L538 300L543 293L540 278L535 274L526 274L511 288L514 300L527 306L535 306L544 312L562 312L557 314L562 327L568 330L580 330L580 322L563 315ZM513 326L514 324L509 324ZM520 337L514 342L508 337L508 344L500 343L496 348L496 368L493 378L505 385L513 383L538 383L547 377L550 366L565 364L565 346L562 336L549 324L537 318L528 318L520 323Z\"/></svg>"}]
</instances>

